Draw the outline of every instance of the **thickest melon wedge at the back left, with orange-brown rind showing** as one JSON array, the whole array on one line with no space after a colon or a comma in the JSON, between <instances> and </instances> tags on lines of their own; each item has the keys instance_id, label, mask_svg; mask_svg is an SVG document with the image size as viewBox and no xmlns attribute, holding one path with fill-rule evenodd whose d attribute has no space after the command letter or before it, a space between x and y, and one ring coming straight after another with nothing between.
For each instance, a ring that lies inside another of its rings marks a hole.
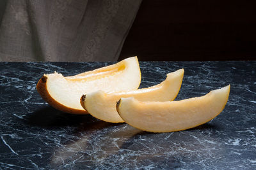
<instances>
[{"instance_id":1,"label":"thickest melon wedge at the back left, with orange-brown rind showing","mask_svg":"<svg viewBox=\"0 0 256 170\"><path fill-rule=\"evenodd\" d=\"M117 92L136 90L140 86L141 73L137 57L130 57L116 64L93 71L63 76L60 73L44 74L36 89L52 107L67 113L86 114L80 104L83 94L95 90Z\"/></svg>"}]
</instances>

